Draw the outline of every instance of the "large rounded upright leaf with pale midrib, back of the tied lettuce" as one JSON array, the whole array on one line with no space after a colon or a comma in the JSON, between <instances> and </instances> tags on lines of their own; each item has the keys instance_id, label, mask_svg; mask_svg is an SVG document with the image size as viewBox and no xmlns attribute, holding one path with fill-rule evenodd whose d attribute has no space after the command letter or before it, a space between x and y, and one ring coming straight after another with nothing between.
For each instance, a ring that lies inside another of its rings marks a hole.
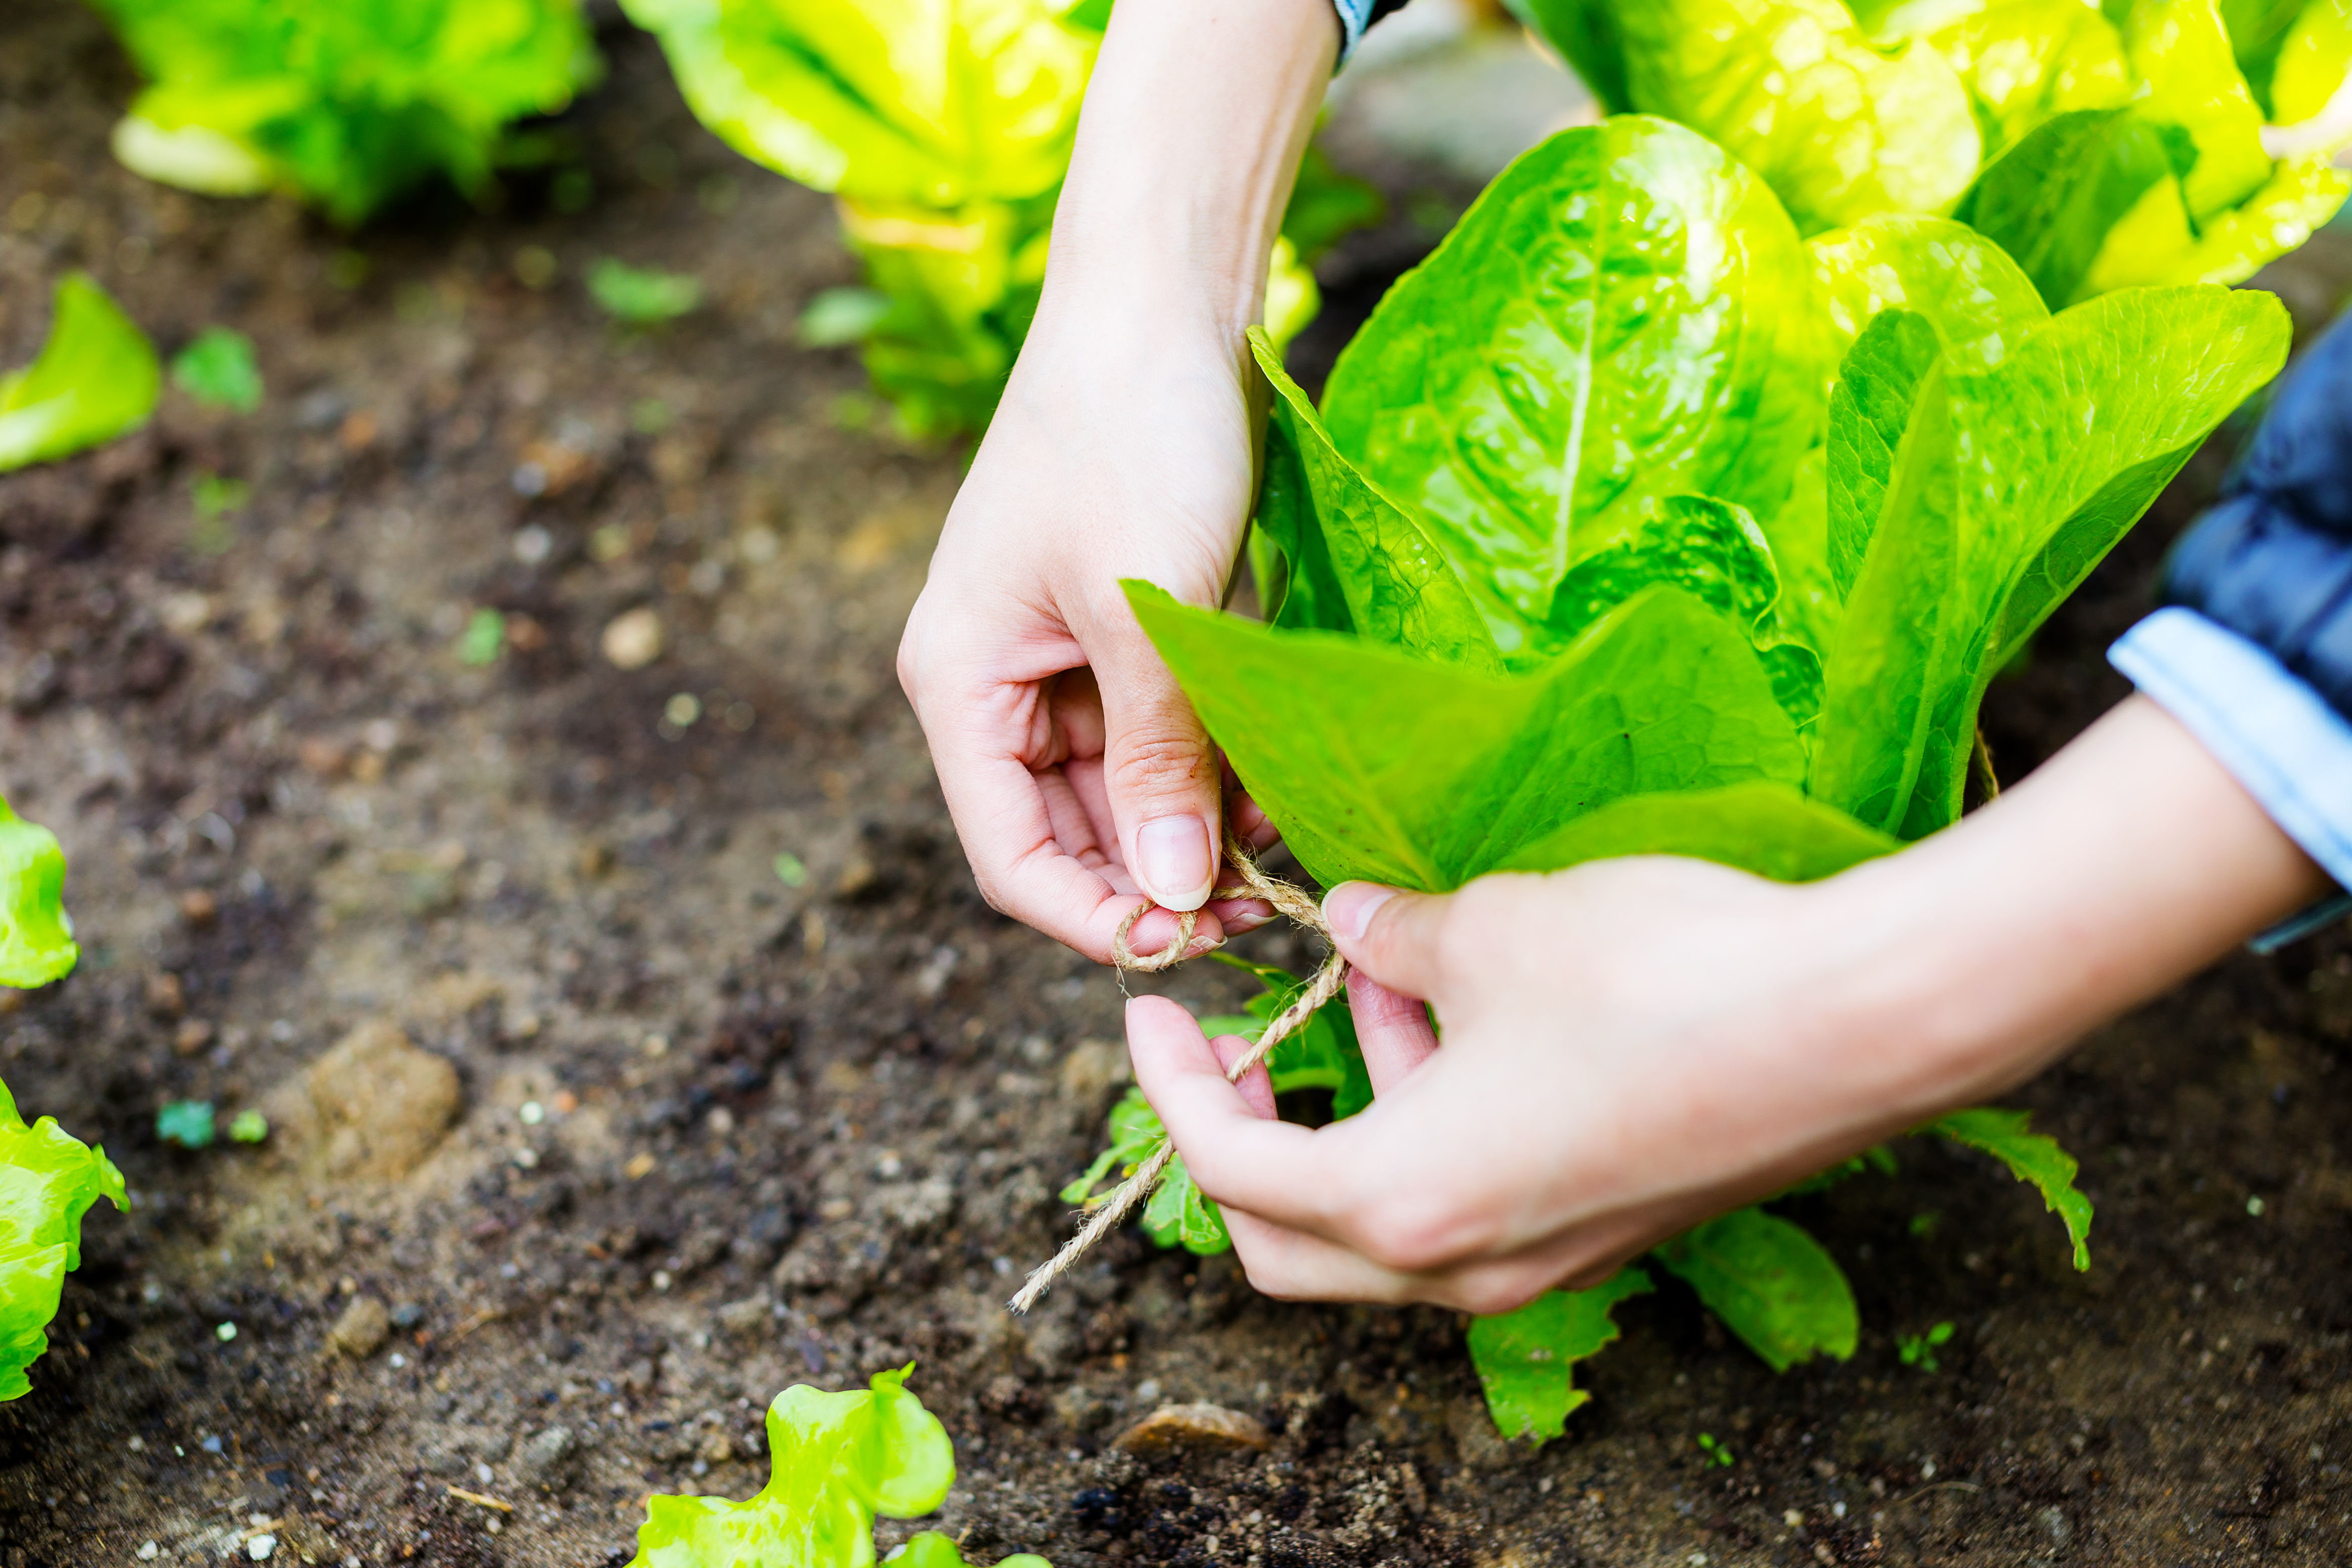
<instances>
[{"instance_id":1,"label":"large rounded upright leaf with pale midrib, back of the tied lettuce","mask_svg":"<svg viewBox=\"0 0 2352 1568\"><path fill-rule=\"evenodd\" d=\"M1569 567L1665 496L1788 496L1823 418L1809 273L1771 193L1691 132L1562 132L1341 355L1331 447L1531 668L1564 646L1548 616Z\"/></svg>"}]
</instances>

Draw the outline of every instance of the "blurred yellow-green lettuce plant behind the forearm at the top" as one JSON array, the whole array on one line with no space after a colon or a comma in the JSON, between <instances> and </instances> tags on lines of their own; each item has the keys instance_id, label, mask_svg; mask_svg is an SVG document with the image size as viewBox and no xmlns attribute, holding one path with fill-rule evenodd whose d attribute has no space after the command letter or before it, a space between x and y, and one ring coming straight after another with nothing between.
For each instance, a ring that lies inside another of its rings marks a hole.
<instances>
[{"instance_id":1,"label":"blurred yellow-green lettuce plant behind the forearm at the top","mask_svg":"<svg viewBox=\"0 0 2352 1568\"><path fill-rule=\"evenodd\" d=\"M866 284L802 341L861 343L917 437L978 430L1044 284L1054 202L1110 7L1068 0L623 0L722 141L840 200ZM1303 261L1378 197L1310 158L1268 287L1277 336L1317 308Z\"/></svg>"}]
</instances>

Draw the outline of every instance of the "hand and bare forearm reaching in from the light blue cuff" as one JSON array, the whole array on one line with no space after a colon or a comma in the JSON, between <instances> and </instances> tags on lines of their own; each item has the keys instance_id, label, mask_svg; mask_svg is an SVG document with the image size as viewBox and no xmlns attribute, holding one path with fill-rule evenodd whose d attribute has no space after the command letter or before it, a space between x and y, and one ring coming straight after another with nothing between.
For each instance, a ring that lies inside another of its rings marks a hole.
<instances>
[{"instance_id":1,"label":"hand and bare forearm reaching in from the light blue cuff","mask_svg":"<svg viewBox=\"0 0 2352 1568\"><path fill-rule=\"evenodd\" d=\"M1637 858L1334 889L1378 1093L1348 1121L1272 1121L1263 1070L1225 1084L1242 1041L1171 1001L1129 1006L1129 1048L1261 1291L1505 1312L2018 1084L2324 889L2131 698L1962 825L1811 886Z\"/></svg>"}]
</instances>

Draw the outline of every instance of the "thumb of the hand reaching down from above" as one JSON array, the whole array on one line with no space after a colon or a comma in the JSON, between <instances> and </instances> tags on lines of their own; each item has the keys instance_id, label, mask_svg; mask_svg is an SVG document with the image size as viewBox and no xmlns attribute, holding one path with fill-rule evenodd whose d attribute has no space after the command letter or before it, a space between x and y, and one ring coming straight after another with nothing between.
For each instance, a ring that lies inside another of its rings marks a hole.
<instances>
[{"instance_id":1,"label":"thumb of the hand reaching down from above","mask_svg":"<svg viewBox=\"0 0 2352 1568\"><path fill-rule=\"evenodd\" d=\"M1225 842L1216 748L1124 602L1120 616L1108 646L1087 649L1103 693L1110 818L1136 886L1167 910L1197 910L1216 889Z\"/></svg>"}]
</instances>

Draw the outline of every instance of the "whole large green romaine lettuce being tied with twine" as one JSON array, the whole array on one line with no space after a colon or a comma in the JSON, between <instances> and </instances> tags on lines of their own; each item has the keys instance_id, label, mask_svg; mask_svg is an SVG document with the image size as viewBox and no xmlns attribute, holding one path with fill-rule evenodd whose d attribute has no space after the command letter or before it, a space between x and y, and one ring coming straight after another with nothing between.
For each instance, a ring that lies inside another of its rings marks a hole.
<instances>
[{"instance_id":1,"label":"whole large green romaine lettuce being tied with twine","mask_svg":"<svg viewBox=\"0 0 2352 1568\"><path fill-rule=\"evenodd\" d=\"M2286 346L2274 299L2218 287L2053 315L1943 219L1804 242L1698 134L1616 118L1512 165L1319 411L1258 339L1268 623L1129 597L1324 884L1444 891L1623 853L1818 879L1959 816L1992 672ZM1268 983L1258 1018L1294 985ZM1277 1088L1319 1072L1348 1114L1369 1091L1336 1013L1272 1065ZM1120 1117L1089 1178L1148 1152L1148 1107ZM2037 1182L2086 1262L2074 1166L2023 1117L1922 1131ZM1223 1232L1181 1175L1152 1213L1185 1246ZM1776 1368L1856 1347L1844 1274L1776 1213L1653 1262ZM1637 1284L1472 1338L1508 1432L1557 1434L1566 1363Z\"/></svg>"}]
</instances>

